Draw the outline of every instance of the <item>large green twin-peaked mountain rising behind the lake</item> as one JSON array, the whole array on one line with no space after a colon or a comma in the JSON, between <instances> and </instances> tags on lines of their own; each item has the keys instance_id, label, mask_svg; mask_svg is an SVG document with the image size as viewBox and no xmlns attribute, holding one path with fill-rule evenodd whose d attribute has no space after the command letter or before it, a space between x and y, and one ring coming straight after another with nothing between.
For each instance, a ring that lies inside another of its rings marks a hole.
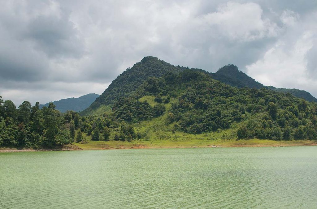
<instances>
[{"instance_id":1,"label":"large green twin-peaked mountain rising behind the lake","mask_svg":"<svg viewBox=\"0 0 317 209\"><path fill-rule=\"evenodd\" d=\"M148 141L317 139L315 103L270 90L234 65L211 74L145 57L81 113L89 116L82 131L92 133L93 127L99 131L107 124L114 133L110 140L131 141L134 128L139 139Z\"/></svg>"}]
</instances>

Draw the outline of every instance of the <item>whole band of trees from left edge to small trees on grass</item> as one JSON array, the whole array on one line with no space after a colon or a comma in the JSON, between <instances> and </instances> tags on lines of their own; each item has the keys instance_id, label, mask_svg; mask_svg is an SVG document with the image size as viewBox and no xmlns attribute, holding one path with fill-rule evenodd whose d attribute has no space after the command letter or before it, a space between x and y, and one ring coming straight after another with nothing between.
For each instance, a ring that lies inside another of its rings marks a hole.
<instances>
[{"instance_id":1,"label":"whole band of trees from left edge to small trees on grass","mask_svg":"<svg viewBox=\"0 0 317 209\"><path fill-rule=\"evenodd\" d=\"M28 101L16 106L0 96L0 147L55 148L74 141L80 142L84 134L92 140L133 140L142 135L124 121L107 115L82 117L77 112L61 114L50 102L40 109Z\"/></svg>"}]
</instances>

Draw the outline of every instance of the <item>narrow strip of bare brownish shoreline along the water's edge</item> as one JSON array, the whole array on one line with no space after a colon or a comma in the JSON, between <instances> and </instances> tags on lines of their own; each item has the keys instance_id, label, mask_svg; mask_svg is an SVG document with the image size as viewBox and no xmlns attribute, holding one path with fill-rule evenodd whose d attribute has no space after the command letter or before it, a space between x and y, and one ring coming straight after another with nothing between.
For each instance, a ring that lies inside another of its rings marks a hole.
<instances>
[{"instance_id":1,"label":"narrow strip of bare brownish shoreline along the water's edge","mask_svg":"<svg viewBox=\"0 0 317 209\"><path fill-rule=\"evenodd\" d=\"M104 142L104 141L101 141ZM281 142L281 141L279 141ZM284 142L284 141L282 141ZM107 144L104 144L104 146L93 146L93 147L87 147L85 149L81 148L80 146L77 146L75 144L70 144L70 145L64 145L63 147L59 148L52 148L52 149L17 149L17 148L0 148L0 153L2 152L47 152L47 151L79 151L79 150L113 150L113 149L168 149L168 148L223 148L223 147L284 147L284 146L317 146L316 141L310 141L310 140L305 140L306 143L302 142L301 140L294 140L294 141L285 141L288 143L281 143L281 144L275 144L275 145L270 145L270 144L227 144L227 145L216 145L214 146L200 146L200 145L194 145L194 146L159 146L159 145L154 145L154 146L147 146L147 145L141 145L141 144L131 144L131 146L124 146L124 145L119 145L117 147L115 146L109 146ZM289 143L293 142L293 143ZM299 143L300 142L300 143ZM308 143L309 142L309 143ZM107 143L107 142L105 142Z\"/></svg>"}]
</instances>

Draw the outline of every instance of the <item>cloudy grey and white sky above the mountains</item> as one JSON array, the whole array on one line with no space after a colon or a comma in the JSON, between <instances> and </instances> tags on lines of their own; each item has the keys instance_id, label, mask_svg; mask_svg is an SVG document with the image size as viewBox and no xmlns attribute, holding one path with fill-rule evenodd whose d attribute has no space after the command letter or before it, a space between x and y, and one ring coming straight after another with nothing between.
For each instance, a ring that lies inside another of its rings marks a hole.
<instances>
[{"instance_id":1,"label":"cloudy grey and white sky above the mountains","mask_svg":"<svg viewBox=\"0 0 317 209\"><path fill-rule=\"evenodd\" d=\"M0 95L101 94L145 56L317 97L315 0L0 0Z\"/></svg>"}]
</instances>

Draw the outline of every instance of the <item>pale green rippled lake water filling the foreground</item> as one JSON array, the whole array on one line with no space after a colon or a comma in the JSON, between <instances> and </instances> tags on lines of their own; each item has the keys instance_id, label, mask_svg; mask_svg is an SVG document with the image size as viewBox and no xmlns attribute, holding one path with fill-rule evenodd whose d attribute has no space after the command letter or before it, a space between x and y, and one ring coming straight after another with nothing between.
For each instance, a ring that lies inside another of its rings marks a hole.
<instances>
[{"instance_id":1,"label":"pale green rippled lake water filling the foreground","mask_svg":"<svg viewBox=\"0 0 317 209\"><path fill-rule=\"evenodd\" d=\"M0 208L317 208L317 146L0 153Z\"/></svg>"}]
</instances>

